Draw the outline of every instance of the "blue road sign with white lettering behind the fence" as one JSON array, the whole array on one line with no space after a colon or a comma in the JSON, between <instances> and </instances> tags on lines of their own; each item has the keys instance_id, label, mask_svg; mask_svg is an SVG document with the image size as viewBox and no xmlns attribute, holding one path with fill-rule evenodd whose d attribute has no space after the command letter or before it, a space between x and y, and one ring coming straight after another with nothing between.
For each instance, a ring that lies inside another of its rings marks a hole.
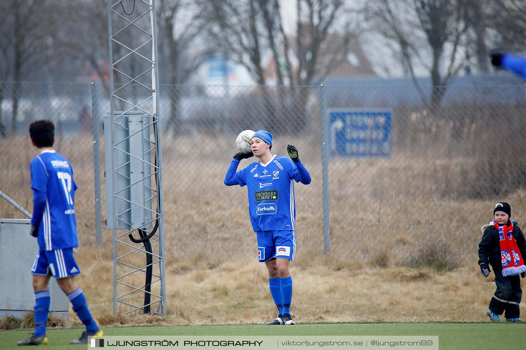
<instances>
[{"instance_id":1,"label":"blue road sign with white lettering behind the fence","mask_svg":"<svg viewBox=\"0 0 526 350\"><path fill-rule=\"evenodd\" d=\"M332 155L388 157L392 150L392 111L329 109Z\"/></svg>"}]
</instances>

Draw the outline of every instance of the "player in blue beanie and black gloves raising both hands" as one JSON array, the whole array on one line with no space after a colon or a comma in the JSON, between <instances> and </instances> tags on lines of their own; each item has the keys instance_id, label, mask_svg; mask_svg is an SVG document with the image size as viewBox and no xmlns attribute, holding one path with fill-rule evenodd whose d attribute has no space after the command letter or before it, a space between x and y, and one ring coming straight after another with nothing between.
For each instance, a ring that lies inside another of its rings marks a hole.
<instances>
[{"instance_id":1,"label":"player in blue beanie and black gloves raising both hands","mask_svg":"<svg viewBox=\"0 0 526 350\"><path fill-rule=\"evenodd\" d=\"M272 155L272 134L259 130L251 138L251 151L237 153L230 163L225 185L248 189L248 208L258 240L259 262L267 266L269 288L278 308L276 320L269 325L296 324L290 316L292 277L289 263L296 256L296 205L294 181L310 184L310 175L301 164L298 150L287 146L290 158ZM242 159L259 158L237 171ZM293 181L294 180L294 181Z\"/></svg>"}]
</instances>

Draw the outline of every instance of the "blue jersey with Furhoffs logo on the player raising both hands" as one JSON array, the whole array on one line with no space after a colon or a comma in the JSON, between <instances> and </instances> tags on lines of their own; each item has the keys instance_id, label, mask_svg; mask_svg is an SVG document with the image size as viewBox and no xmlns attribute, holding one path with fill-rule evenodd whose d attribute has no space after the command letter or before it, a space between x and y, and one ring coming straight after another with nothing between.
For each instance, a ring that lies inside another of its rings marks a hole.
<instances>
[{"instance_id":1,"label":"blue jersey with Furhoffs logo on the player raising both hands","mask_svg":"<svg viewBox=\"0 0 526 350\"><path fill-rule=\"evenodd\" d=\"M310 183L310 175L301 162L294 163L290 158L274 155L267 164L254 162L236 173L238 165L238 160L231 162L225 184L247 186L248 210L254 231L294 230L294 181Z\"/></svg>"}]
</instances>

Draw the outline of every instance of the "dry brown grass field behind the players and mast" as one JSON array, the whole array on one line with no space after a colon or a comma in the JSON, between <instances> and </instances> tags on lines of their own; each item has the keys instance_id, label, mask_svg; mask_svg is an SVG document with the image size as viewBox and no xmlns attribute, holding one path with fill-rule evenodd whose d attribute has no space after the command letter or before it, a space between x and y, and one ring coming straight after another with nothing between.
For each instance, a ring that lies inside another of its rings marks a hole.
<instances>
[{"instance_id":1,"label":"dry brown grass field behind the players and mast","mask_svg":"<svg viewBox=\"0 0 526 350\"><path fill-rule=\"evenodd\" d=\"M469 166L470 161L444 158L441 150L397 150L389 159L331 158L331 253L325 256L321 154L318 141L305 140L276 137L273 147L280 153L287 143L295 144L312 176L311 185L296 186L298 258L291 264L296 319L483 320L494 284L491 278L481 277L476 264L479 227L489 222L493 203L502 199L447 195L460 186L458 165L467 162ZM28 148L27 140L10 142L0 145L6 164L15 164L9 173L17 176L0 177L0 188L9 189L4 192L31 210L27 167L35 152ZM189 142L178 139L163 144L166 317L113 315L112 231L103 228L104 245L95 247L93 144L89 136L60 144L59 151L72 162L79 186L76 259L83 274L77 280L102 325L274 319L266 269L255 257L256 236L247 215L246 188L222 184L232 153L223 150L231 150L231 142L219 139L217 148L200 155L200 166L196 166L195 150L179 147ZM200 142L205 144L207 137ZM75 152L67 154L73 146ZM197 178L202 179L198 186ZM526 218L525 196L520 190L505 197L519 222ZM104 197L103 183L103 218ZM0 216L21 217L5 201L0 201ZM158 245L153 248L155 252ZM135 266L144 265L144 260L143 253L128 259ZM119 274L126 271L123 268ZM126 281L141 285L144 275ZM119 287L118 294L126 291ZM133 293L129 301L140 304L143 298ZM121 305L118 311L127 310ZM72 311L69 316L70 322L78 324Z\"/></svg>"}]
</instances>

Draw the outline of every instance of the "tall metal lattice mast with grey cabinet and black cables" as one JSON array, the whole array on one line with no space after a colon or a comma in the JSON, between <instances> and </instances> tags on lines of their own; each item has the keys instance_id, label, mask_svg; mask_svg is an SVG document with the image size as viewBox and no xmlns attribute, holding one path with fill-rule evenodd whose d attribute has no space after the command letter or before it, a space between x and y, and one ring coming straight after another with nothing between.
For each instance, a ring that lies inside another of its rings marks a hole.
<instances>
[{"instance_id":1,"label":"tall metal lattice mast with grey cabinet and black cables","mask_svg":"<svg viewBox=\"0 0 526 350\"><path fill-rule=\"evenodd\" d=\"M155 0L108 0L108 43L111 107L104 126L113 311L160 309L166 315Z\"/></svg>"}]
</instances>

